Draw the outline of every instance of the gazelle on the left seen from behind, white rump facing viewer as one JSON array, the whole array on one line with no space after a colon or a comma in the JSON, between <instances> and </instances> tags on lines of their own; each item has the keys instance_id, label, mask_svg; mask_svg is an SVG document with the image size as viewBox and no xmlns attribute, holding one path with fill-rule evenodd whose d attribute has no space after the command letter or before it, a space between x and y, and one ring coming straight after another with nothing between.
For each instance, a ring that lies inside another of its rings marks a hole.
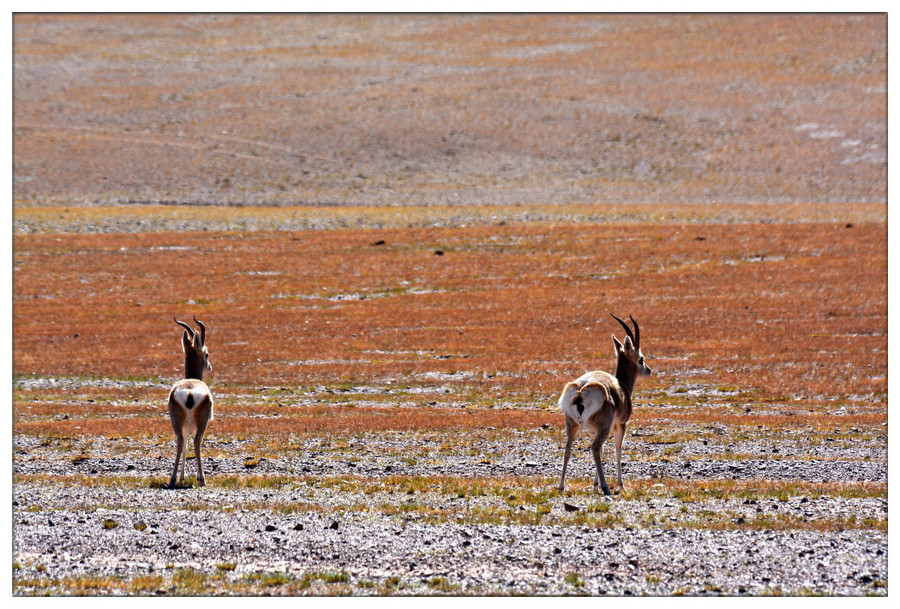
<instances>
[{"instance_id":1,"label":"gazelle on the left seen from behind, white rump facing viewer","mask_svg":"<svg viewBox=\"0 0 900 609\"><path fill-rule=\"evenodd\" d=\"M197 485L204 486L203 463L200 461L200 444L206 426L213 420L212 394L203 382L203 373L212 371L209 363L209 351L206 349L206 326L196 317L194 322L200 326L197 332L183 321L175 319L175 323L184 328L181 335L181 347L184 349L184 379L172 386L169 392L169 420L175 432L177 446L175 449L175 469L169 480L169 488L184 483L184 462L187 459L185 439L194 436L194 455L197 457ZM178 467L181 466L181 475Z\"/></svg>"}]
</instances>

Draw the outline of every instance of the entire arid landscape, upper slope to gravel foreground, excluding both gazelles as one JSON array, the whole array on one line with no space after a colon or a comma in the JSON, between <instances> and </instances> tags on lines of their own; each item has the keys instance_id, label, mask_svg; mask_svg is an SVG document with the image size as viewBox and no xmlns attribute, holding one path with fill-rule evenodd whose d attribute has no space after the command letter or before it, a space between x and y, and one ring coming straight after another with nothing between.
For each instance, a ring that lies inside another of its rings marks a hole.
<instances>
[{"instance_id":1,"label":"entire arid landscape, upper slope to gravel foreground, excluding both gazelles","mask_svg":"<svg viewBox=\"0 0 900 609\"><path fill-rule=\"evenodd\" d=\"M885 25L16 15L13 593L886 595Z\"/></svg>"}]
</instances>

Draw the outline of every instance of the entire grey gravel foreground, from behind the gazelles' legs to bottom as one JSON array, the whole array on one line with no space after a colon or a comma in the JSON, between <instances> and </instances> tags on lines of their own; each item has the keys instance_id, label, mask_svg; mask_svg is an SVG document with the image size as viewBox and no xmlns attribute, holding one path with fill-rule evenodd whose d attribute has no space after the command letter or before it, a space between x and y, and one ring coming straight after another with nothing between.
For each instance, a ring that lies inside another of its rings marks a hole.
<instances>
[{"instance_id":1,"label":"entire grey gravel foreground, from behind the gazelles' legs to bottom","mask_svg":"<svg viewBox=\"0 0 900 609\"><path fill-rule=\"evenodd\" d=\"M887 502L880 498L684 502L663 495L649 500L616 496L607 502L590 493L572 492L590 475L586 450L574 458L570 493L548 494L546 516L564 521L569 512L593 510L605 503L603 509L616 519L615 526L597 528L575 520L550 526L482 524L473 521L472 514L502 511L507 507L503 497L457 498L440 492L407 497L390 490L390 480L400 476L515 475L524 478L510 480L534 480L533 486L544 487L538 491L549 491L548 477L558 473L558 447L547 442L546 436L541 441L543 430L519 433L524 444L499 458L496 455L502 446L496 443L483 438L463 442L459 453L473 452L465 450L466 445L478 447L491 455L489 463L481 463L485 459L478 456L438 452L415 464L380 457L412 454L415 439L409 434L374 433L357 440L366 447L355 453L358 461L349 461L347 453L310 448L290 457L259 459L252 469L244 464L248 445L211 439L207 443L210 452L226 455L208 459L211 480L225 475L283 475L294 483L257 489L224 488L213 482L204 489L176 491L158 488L170 467L168 452L157 454L154 449L141 455L136 446L122 446L121 441L95 440L91 456L73 463L77 447L70 446L67 452L52 443L17 437L17 475L148 476L155 482L141 482L137 487L124 482L121 487L17 483L14 559L19 565L15 577L21 585L16 593L44 590L31 586L54 579L106 576L133 580L165 577L179 569L229 582L273 573L295 581L310 573L340 573L344 578L341 591L359 595L886 593L885 532L828 527L823 531L715 530L685 524L704 519L721 522L723 514L747 520L760 514L804 521L877 520L887 516ZM638 439L633 441L640 444ZM421 439L418 444L421 449ZM877 457L880 443L861 450ZM707 457L663 463L626 455L626 485L630 478L653 476L813 482L886 477L886 458L730 462ZM826 464L827 468L823 467ZM189 461L189 476L193 466ZM328 484L335 478L351 480L349 489ZM362 481L381 482L384 489L375 493L355 489L353 480L360 485ZM405 510L407 505L419 509ZM424 516L429 509L458 509L459 523L446 519L431 522ZM519 509L534 510L535 506ZM649 514L657 525L647 526ZM116 526L109 528L110 522ZM310 585L304 592L334 593L323 585ZM277 593L277 589L269 592ZM165 583L141 593L177 591Z\"/></svg>"}]
</instances>

